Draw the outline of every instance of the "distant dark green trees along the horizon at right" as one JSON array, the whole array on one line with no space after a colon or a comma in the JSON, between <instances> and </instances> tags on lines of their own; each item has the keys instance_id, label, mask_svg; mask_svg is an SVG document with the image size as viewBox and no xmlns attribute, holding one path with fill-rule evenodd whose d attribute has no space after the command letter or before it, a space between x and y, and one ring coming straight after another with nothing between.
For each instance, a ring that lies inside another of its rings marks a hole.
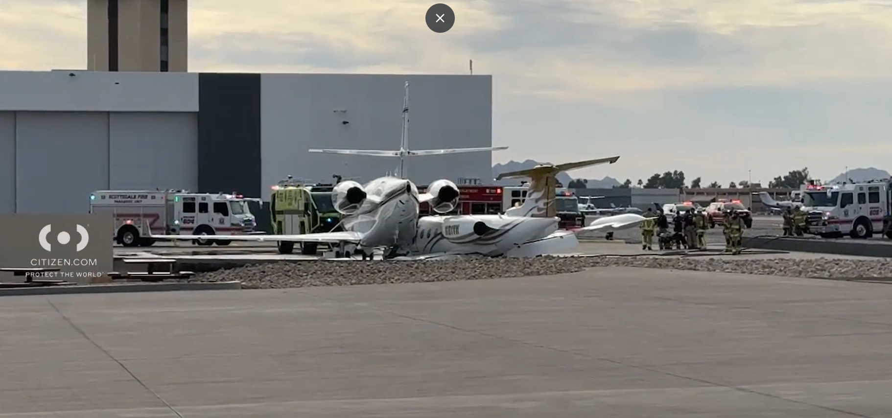
<instances>
[{"instance_id":1,"label":"distant dark green trees along the horizon at right","mask_svg":"<svg viewBox=\"0 0 892 418\"><path fill-rule=\"evenodd\" d=\"M776 176L772 181L768 182L768 187L778 188L778 189L798 189L800 185L805 184L805 181L808 180L808 168L802 168L799 170L793 170L787 173L784 176ZM567 187L571 189L584 189L588 187L589 181L583 178L578 178L567 184ZM654 173L653 176L649 176L647 180L638 179L637 182L633 182L631 178L626 178L623 184L615 185L615 189L628 189L632 187L640 187L642 189L702 189L703 186L703 178L697 177L690 181L690 184L686 183L684 177L684 171L681 170L673 170L666 171L663 174ZM712 182L710 184L706 184L706 188L710 189L719 189L725 187L723 184L719 184L719 182ZM747 188L749 187L749 182L747 180L740 180L739 182L731 182L727 185L729 189L738 189L738 188Z\"/></svg>"}]
</instances>

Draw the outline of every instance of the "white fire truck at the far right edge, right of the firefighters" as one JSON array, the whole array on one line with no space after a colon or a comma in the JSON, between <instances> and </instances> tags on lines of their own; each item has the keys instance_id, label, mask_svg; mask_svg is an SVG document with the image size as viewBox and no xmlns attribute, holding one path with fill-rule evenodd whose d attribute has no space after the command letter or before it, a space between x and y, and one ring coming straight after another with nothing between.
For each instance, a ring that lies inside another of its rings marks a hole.
<instances>
[{"instance_id":1,"label":"white fire truck at the far right edge, right of the firefighters","mask_svg":"<svg viewBox=\"0 0 892 418\"><path fill-rule=\"evenodd\" d=\"M883 230L883 217L889 211L889 183L810 187L803 195L803 210L809 234L870 238Z\"/></svg>"}]
</instances>

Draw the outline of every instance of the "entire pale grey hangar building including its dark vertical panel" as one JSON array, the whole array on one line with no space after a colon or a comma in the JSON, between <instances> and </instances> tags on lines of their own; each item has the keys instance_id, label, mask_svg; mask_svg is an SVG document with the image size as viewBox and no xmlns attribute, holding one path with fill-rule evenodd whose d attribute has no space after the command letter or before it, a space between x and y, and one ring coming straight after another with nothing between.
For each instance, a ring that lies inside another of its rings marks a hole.
<instances>
[{"instance_id":1,"label":"entire pale grey hangar building including its dark vertical panel","mask_svg":"<svg viewBox=\"0 0 892 418\"><path fill-rule=\"evenodd\" d=\"M398 149L406 81L413 149L491 146L491 76L3 71L0 213L84 213L101 189L268 200L288 175L368 181L397 160L307 150ZM490 178L491 152L408 171Z\"/></svg>"}]
</instances>

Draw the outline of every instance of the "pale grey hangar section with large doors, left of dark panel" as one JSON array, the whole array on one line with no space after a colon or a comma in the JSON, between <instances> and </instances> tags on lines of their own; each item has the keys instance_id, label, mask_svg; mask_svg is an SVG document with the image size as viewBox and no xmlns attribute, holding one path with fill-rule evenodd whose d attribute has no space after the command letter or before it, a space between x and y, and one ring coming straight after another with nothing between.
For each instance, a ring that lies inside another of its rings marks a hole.
<instances>
[{"instance_id":1,"label":"pale grey hangar section with large doors, left of dark panel","mask_svg":"<svg viewBox=\"0 0 892 418\"><path fill-rule=\"evenodd\" d=\"M0 90L2 213L86 213L98 189L197 188L196 74L2 71Z\"/></svg>"}]
</instances>

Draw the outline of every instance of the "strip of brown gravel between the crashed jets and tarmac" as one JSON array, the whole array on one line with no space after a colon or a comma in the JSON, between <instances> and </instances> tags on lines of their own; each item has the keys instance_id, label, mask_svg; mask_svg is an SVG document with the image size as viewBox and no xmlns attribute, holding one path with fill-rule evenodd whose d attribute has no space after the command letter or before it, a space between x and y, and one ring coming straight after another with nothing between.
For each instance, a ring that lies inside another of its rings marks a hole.
<instances>
[{"instance_id":1,"label":"strip of brown gravel between the crashed jets and tarmac","mask_svg":"<svg viewBox=\"0 0 892 418\"><path fill-rule=\"evenodd\" d=\"M190 282L237 280L245 289L281 289L355 284L481 280L580 272L588 267L627 266L670 270L815 278L882 278L892 259L835 258L464 258L429 261L308 261L244 266L196 276Z\"/></svg>"}]
</instances>

